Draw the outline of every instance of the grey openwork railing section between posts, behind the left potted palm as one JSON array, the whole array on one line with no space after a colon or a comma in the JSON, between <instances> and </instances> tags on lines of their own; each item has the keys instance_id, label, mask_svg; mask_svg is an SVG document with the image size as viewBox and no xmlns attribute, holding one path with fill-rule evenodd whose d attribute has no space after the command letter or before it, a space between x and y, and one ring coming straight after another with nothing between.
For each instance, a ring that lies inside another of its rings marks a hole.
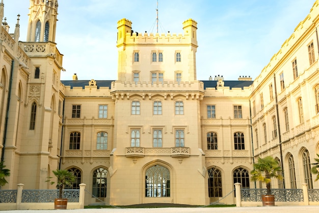
<instances>
[{"instance_id":1,"label":"grey openwork railing section between posts, behind the left potted palm","mask_svg":"<svg viewBox=\"0 0 319 213\"><path fill-rule=\"evenodd\" d=\"M59 197L59 190L23 190L22 203L51 203ZM79 190L63 190L68 202L78 202Z\"/></svg>"}]
</instances>

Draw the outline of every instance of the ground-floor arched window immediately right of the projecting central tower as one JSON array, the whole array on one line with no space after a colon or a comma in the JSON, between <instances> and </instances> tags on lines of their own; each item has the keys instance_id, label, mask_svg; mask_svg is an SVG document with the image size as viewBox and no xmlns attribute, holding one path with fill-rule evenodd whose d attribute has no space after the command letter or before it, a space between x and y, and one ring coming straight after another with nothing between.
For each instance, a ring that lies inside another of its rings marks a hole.
<instances>
[{"instance_id":1,"label":"ground-floor arched window immediately right of the projecting central tower","mask_svg":"<svg viewBox=\"0 0 319 213\"><path fill-rule=\"evenodd\" d=\"M208 196L223 197L222 173L216 168L210 168L208 172Z\"/></svg>"}]
</instances>

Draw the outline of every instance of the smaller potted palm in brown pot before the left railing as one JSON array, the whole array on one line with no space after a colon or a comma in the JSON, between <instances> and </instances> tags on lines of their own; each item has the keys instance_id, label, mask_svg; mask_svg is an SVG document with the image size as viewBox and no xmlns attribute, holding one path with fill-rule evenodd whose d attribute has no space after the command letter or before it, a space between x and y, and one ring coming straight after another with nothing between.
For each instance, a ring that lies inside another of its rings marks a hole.
<instances>
[{"instance_id":1,"label":"smaller potted palm in brown pot before the left railing","mask_svg":"<svg viewBox=\"0 0 319 213\"><path fill-rule=\"evenodd\" d=\"M76 181L76 177L72 172L67 170L55 170L52 173L57 177L57 182L52 181L50 184L57 183L57 188L59 189L59 198L55 199L55 209L66 209L68 199L63 198L63 188L71 186Z\"/></svg>"}]
</instances>

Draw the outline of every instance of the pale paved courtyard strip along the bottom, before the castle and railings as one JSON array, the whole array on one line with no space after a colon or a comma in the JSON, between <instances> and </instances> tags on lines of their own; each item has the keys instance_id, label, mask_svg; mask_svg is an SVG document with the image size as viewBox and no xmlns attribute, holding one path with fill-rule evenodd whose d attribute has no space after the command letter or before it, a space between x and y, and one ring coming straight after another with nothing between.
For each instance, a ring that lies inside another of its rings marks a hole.
<instances>
[{"instance_id":1,"label":"pale paved courtyard strip along the bottom, before the castle and railings","mask_svg":"<svg viewBox=\"0 0 319 213\"><path fill-rule=\"evenodd\" d=\"M11 210L1 213L318 213L319 206L216 207L216 208L86 208L67 210Z\"/></svg>"}]
</instances>

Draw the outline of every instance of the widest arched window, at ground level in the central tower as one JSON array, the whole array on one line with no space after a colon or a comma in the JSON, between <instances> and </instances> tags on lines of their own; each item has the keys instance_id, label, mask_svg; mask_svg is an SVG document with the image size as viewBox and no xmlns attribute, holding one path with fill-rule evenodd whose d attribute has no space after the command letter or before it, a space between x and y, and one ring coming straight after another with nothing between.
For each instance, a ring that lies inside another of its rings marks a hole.
<instances>
[{"instance_id":1,"label":"widest arched window, at ground level in the central tower","mask_svg":"<svg viewBox=\"0 0 319 213\"><path fill-rule=\"evenodd\" d=\"M145 197L170 197L170 171L153 165L145 172Z\"/></svg>"}]
</instances>

